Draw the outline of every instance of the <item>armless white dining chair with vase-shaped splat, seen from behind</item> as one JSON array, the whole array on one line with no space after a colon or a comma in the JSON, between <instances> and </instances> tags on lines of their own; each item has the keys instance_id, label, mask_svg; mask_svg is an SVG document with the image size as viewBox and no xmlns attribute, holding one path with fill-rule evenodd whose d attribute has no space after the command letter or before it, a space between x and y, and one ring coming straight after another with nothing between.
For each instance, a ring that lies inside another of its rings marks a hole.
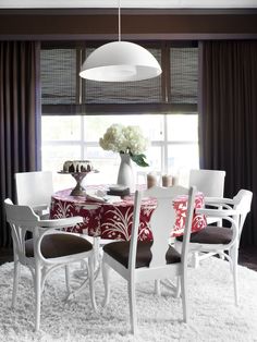
<instances>
[{"instance_id":1,"label":"armless white dining chair with vase-shaped splat, seen from behind","mask_svg":"<svg viewBox=\"0 0 257 342\"><path fill-rule=\"evenodd\" d=\"M187 300L187 252L191 234L194 198L196 190L182 186L151 187L145 192L135 193L134 217L131 241L112 242L103 246L102 277L106 289L103 307L110 298L110 269L120 273L127 281L130 297L131 331L136 333L136 298L135 285L137 282L160 280L179 276L182 284L183 320L188 319ZM171 245L169 237L176 219L172 201L180 195L188 195L186 224L182 254L179 254ZM157 208L150 218L150 229L154 235L152 242L138 241L138 227L142 199L155 198Z\"/></svg>"}]
</instances>

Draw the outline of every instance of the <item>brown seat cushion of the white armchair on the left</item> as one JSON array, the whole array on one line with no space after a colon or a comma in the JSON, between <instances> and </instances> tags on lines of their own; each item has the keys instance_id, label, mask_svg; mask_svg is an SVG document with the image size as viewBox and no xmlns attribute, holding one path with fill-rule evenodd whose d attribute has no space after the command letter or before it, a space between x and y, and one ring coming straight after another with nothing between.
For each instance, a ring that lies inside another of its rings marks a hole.
<instances>
[{"instance_id":1,"label":"brown seat cushion of the white armchair on the left","mask_svg":"<svg viewBox=\"0 0 257 342\"><path fill-rule=\"evenodd\" d=\"M58 258L90 249L93 245L86 239L71 234L49 234L41 241L41 254L45 258ZM26 257L34 257L33 239L26 241L25 251Z\"/></svg>"}]
</instances>

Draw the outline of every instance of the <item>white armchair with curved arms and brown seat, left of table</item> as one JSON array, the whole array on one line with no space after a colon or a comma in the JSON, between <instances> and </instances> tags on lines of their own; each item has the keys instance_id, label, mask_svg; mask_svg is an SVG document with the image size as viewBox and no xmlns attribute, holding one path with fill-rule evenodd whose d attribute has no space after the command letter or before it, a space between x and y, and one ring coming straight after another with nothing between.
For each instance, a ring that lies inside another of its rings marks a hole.
<instances>
[{"instance_id":1,"label":"white armchair with curved arms and brown seat, left of table","mask_svg":"<svg viewBox=\"0 0 257 342\"><path fill-rule=\"evenodd\" d=\"M33 277L35 292L35 330L40 327L40 304L48 276L57 268L88 259L88 277L91 305L97 310L94 288L94 248L77 234L60 229L83 222L82 217L57 220L40 220L29 206L13 205L4 200L7 221L11 227L14 253L14 277L12 306L16 304L16 294L21 265L28 267ZM26 240L30 232L32 239Z\"/></svg>"}]
</instances>

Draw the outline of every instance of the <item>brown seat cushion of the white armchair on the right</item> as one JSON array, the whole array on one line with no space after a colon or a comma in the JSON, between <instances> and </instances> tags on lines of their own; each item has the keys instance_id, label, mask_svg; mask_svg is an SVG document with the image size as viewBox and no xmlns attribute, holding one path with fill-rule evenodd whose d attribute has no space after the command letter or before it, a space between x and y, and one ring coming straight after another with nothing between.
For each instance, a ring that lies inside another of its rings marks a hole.
<instances>
[{"instance_id":1,"label":"brown seat cushion of the white armchair on the right","mask_svg":"<svg viewBox=\"0 0 257 342\"><path fill-rule=\"evenodd\" d=\"M191 242L203 244L228 244L232 240L232 230L225 227L207 225L205 229L191 234ZM183 235L176 240L183 241Z\"/></svg>"}]
</instances>

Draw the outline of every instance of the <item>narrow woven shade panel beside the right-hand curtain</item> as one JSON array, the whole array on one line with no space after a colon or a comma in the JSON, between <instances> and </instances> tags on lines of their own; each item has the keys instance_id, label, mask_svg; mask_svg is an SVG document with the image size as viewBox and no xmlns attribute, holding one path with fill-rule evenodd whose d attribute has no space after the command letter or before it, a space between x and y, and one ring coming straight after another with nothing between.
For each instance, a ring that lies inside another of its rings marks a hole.
<instances>
[{"instance_id":1,"label":"narrow woven shade panel beside the right-hand curtain","mask_svg":"<svg viewBox=\"0 0 257 342\"><path fill-rule=\"evenodd\" d=\"M197 103L198 48L170 49L171 103Z\"/></svg>"}]
</instances>

